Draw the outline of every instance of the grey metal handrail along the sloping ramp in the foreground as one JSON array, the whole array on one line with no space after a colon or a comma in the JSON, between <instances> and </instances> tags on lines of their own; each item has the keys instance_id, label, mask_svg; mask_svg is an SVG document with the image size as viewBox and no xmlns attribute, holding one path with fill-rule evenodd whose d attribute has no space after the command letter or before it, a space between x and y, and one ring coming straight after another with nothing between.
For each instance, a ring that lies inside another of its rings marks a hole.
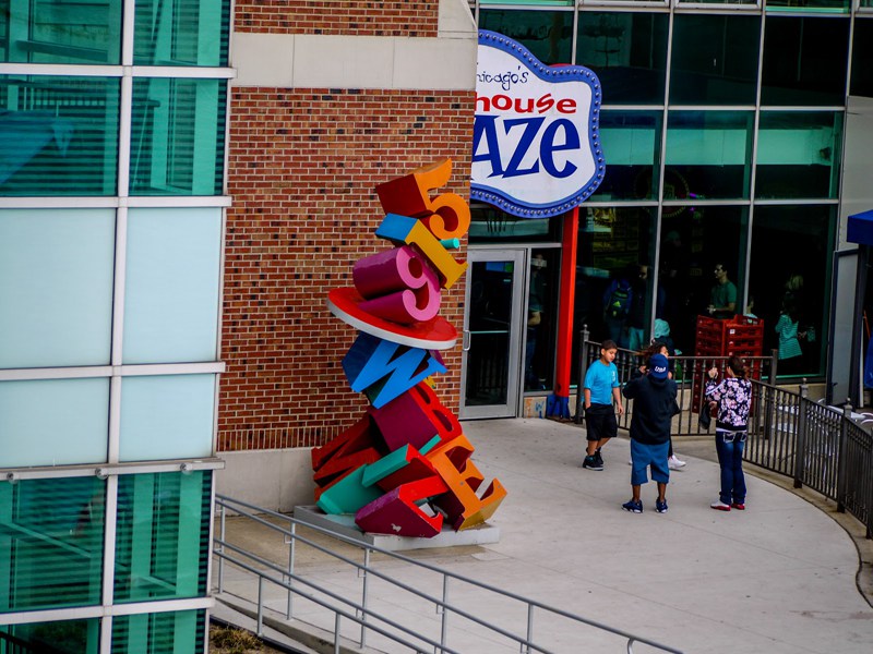
<instances>
[{"instance_id":1,"label":"grey metal handrail along the sloping ramp in the foreground","mask_svg":"<svg viewBox=\"0 0 873 654\"><path fill-rule=\"evenodd\" d=\"M457 654L483 651L481 643L485 641L481 639L487 639L492 645L495 642L505 642L506 647L512 647L522 654L558 652L555 647L566 652L566 643L576 639L575 642L583 649L575 646L574 643L573 651L585 651L584 644L586 639L590 640L591 630L596 631L597 639L615 637L617 644L623 641L629 653L633 652L636 643L660 652L680 653L680 650L653 640L467 579L363 541L343 536L335 531L302 523L284 513L222 495L216 496L215 506L219 516L218 534L214 541L214 555L217 558L215 590L219 594L219 600L222 594L229 594L256 604L259 635L263 633L265 611L270 610L265 606L266 583L284 592L283 610L279 615L287 621L297 619L311 623L312 605L308 605L308 610L300 611L296 608L299 600L309 601L326 609L332 618L327 620L322 617L321 622L333 625L332 642L336 653L340 651L343 640L363 649L367 646L369 632L378 633L388 639L391 643L416 653L432 651L436 654ZM287 564L268 560L228 542L228 512L232 513L235 519L251 521L252 529L255 526L266 529L284 537L288 546ZM313 535L308 536L308 532ZM325 538L333 546L316 542ZM348 580L343 583L336 580L319 581L315 574L308 577L301 572L299 569L301 566L298 565L301 555L298 548L303 545L313 548L321 561L328 561L332 566L340 564L344 570L354 572L359 580L356 582L358 588L352 592L347 590ZM349 549L357 555L356 558L340 552ZM373 560L374 555L380 559L380 567ZM246 597L228 588L226 580L228 566L237 572L244 571L256 579L256 598ZM432 576L433 582L430 584L433 586L432 590L421 590L410 582L402 581L404 573L411 569L419 573L419 581L416 582L418 585L422 577L420 573ZM374 590L380 582L384 582L380 586L381 590ZM339 586L346 589L345 592L333 590ZM450 596L453 597L452 602ZM390 602L386 602L386 598L390 598ZM469 602L473 608L463 606L465 601ZM274 605L275 602L274 596ZM493 623L476 614L476 606L488 605L493 608L495 603L501 607L505 605L505 611L502 610L501 615L505 615L506 626ZM428 611L424 607L429 607L431 615L439 616L439 619L426 618ZM303 617L300 617L300 614ZM404 614L411 618L408 620L409 623L404 621ZM574 632L573 629L582 632ZM474 633L475 630L478 631ZM555 634L560 634L560 644L557 644ZM453 642L451 646L450 637ZM552 642L549 642L549 637L552 637ZM480 639L478 641L480 644L470 646L470 639ZM603 651L601 640L597 640L597 643L596 650Z\"/></svg>"}]
</instances>

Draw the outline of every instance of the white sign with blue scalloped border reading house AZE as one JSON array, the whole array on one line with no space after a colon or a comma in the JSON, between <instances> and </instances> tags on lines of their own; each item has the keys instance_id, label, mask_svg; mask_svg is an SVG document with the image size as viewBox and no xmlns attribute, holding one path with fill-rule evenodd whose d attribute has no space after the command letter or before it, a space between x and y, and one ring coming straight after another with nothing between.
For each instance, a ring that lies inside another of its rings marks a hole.
<instances>
[{"instance_id":1,"label":"white sign with blue scalloped border reading house AZE","mask_svg":"<svg viewBox=\"0 0 873 654\"><path fill-rule=\"evenodd\" d=\"M548 66L521 44L479 31L470 197L522 218L548 218L600 185L600 81Z\"/></svg>"}]
</instances>

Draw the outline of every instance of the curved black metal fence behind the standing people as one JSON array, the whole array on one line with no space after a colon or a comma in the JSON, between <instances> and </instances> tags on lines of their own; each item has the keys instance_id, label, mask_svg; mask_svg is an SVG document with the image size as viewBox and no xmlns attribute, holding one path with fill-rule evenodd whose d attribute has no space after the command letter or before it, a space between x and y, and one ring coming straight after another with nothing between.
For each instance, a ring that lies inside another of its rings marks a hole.
<instances>
[{"instance_id":1,"label":"curved black metal fence behind the standing people","mask_svg":"<svg viewBox=\"0 0 873 654\"><path fill-rule=\"evenodd\" d=\"M600 356L600 343L582 332L579 378ZM850 405L827 407L810 400L805 379L798 391L776 386L777 361L772 356L743 358L752 372L752 405L744 460L772 472L793 479L794 487L806 486L837 502L837 510L848 511L873 538L873 416L858 414ZM699 424L706 371L723 370L728 356L671 356L675 371L681 412L673 419L671 434L705 435L715 433ZM619 350L615 365L624 383L642 365L637 352ZM582 421L582 393L576 402L576 422ZM625 400L619 428L629 429L633 400Z\"/></svg>"}]
</instances>

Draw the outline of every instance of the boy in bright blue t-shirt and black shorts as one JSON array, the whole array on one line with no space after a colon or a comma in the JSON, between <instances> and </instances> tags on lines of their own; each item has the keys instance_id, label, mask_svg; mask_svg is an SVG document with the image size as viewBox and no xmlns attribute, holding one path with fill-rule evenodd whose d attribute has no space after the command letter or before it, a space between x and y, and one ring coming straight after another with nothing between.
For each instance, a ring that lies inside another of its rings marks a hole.
<instances>
[{"instance_id":1,"label":"boy in bright blue t-shirt and black shorts","mask_svg":"<svg viewBox=\"0 0 873 654\"><path fill-rule=\"evenodd\" d=\"M583 468L588 470L603 470L603 458L600 456L607 440L614 438L619 433L619 423L615 422L615 409L619 415L624 413L621 404L619 388L619 368L612 363L619 347L615 341L606 340L600 343L600 359L595 361L585 374L585 428L588 437L588 447ZM614 408L613 408L614 402Z\"/></svg>"}]
</instances>

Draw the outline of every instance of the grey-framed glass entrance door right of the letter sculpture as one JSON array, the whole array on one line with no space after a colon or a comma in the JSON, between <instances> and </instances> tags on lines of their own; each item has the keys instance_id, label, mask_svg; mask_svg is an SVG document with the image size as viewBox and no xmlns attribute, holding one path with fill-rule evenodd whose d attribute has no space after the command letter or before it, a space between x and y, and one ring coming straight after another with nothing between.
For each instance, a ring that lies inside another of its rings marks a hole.
<instances>
[{"instance_id":1,"label":"grey-framed glass entrance door right of the letter sculpture","mask_svg":"<svg viewBox=\"0 0 873 654\"><path fill-rule=\"evenodd\" d=\"M470 251L461 417L514 417L522 365L524 250Z\"/></svg>"}]
</instances>

